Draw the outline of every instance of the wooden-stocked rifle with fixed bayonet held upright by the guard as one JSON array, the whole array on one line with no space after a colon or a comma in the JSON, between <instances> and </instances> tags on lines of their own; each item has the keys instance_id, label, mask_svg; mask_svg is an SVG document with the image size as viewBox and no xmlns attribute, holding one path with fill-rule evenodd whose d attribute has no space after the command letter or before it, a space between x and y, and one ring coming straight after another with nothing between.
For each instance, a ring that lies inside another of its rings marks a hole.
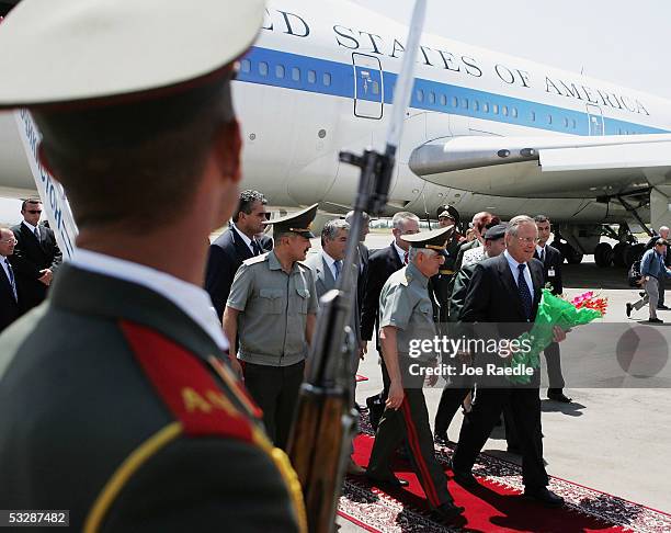
<instances>
[{"instance_id":1,"label":"wooden-stocked rifle with fixed bayonet held upright by the guard","mask_svg":"<svg viewBox=\"0 0 671 533\"><path fill-rule=\"evenodd\" d=\"M287 446L288 456L303 487L310 532L329 532L336 521L350 442L356 427L350 368L356 342L351 328L346 326L352 313L351 292L356 290L352 286L352 266L359 264L362 213L379 215L387 204L396 151L414 81L413 71L425 11L427 0L417 0L408 33L408 47L396 84L384 152L372 148L361 156L340 152L340 161L361 170L354 217L337 288L329 291L320 300L308 360L308 377L300 388Z\"/></svg>"}]
</instances>

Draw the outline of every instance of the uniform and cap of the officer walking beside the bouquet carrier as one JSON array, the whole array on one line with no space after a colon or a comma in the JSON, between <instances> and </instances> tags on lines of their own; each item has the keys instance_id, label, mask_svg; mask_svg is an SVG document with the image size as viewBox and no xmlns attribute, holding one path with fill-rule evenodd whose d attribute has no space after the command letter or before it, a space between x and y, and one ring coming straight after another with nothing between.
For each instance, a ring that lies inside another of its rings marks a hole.
<instances>
[{"instance_id":1,"label":"uniform and cap of the officer walking beside the bouquet carrier","mask_svg":"<svg viewBox=\"0 0 671 533\"><path fill-rule=\"evenodd\" d=\"M451 228L403 236L413 248L444 248ZM442 240L441 240L442 239ZM371 453L367 476L374 481L398 484L389 469L389 458L401 441L407 439L410 458L430 504L454 517L459 508L452 503L447 478L434 455L433 438L429 427L427 401L422 392L423 377L411 375L410 365L422 358L410 356L410 342L432 339L436 334L432 305L428 293L429 279L414 263L395 272L385 283L379 297L380 329L393 326L397 331L398 361L403 379L405 398L399 410L384 411ZM435 359L430 354L428 359ZM424 363L431 364L430 361Z\"/></svg>"}]
</instances>

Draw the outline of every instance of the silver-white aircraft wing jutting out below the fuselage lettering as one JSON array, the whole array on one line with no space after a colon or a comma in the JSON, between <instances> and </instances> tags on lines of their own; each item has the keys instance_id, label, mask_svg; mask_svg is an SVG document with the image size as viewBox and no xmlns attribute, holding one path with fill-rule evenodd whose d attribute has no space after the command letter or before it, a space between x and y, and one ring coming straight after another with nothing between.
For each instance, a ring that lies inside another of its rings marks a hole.
<instances>
[{"instance_id":1,"label":"silver-white aircraft wing jutting out below the fuselage lettering","mask_svg":"<svg viewBox=\"0 0 671 533\"><path fill-rule=\"evenodd\" d=\"M671 184L671 134L452 137L416 148L410 169L494 196L598 197Z\"/></svg>"}]
</instances>

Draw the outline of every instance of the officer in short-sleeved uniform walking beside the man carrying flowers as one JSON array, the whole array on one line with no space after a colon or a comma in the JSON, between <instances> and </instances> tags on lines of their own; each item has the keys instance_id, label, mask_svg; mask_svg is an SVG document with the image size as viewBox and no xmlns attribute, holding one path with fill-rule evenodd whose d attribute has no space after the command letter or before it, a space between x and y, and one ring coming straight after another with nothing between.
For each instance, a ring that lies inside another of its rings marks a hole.
<instances>
[{"instance_id":1,"label":"officer in short-sleeved uniform walking beside the man carrying flowers","mask_svg":"<svg viewBox=\"0 0 671 533\"><path fill-rule=\"evenodd\" d=\"M435 458L422 392L425 375L416 372L413 365L421 362L419 366L425 370L427 360L435 361L435 354L416 358L410 352L411 343L436 334L427 285L443 263L440 251L445 249L450 231L452 227L403 236L410 243L409 263L391 274L380 293L380 341L390 386L366 475L375 484L407 485L389 469L393 452L406 438L413 468L431 507L442 519L452 521L464 509L453 503L447 478ZM435 384L435 379L431 381Z\"/></svg>"}]
</instances>

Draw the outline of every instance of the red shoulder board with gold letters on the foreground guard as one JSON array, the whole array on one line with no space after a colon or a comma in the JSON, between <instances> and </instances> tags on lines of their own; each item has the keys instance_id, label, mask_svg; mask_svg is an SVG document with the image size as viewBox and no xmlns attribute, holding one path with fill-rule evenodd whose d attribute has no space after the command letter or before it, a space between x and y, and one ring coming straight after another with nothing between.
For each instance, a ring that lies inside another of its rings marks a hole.
<instances>
[{"instance_id":1,"label":"red shoulder board with gold letters on the foreground guard","mask_svg":"<svg viewBox=\"0 0 671 533\"><path fill-rule=\"evenodd\" d=\"M152 329L121 321L145 374L191 436L253 440L253 428L224 394L197 356Z\"/></svg>"}]
</instances>

